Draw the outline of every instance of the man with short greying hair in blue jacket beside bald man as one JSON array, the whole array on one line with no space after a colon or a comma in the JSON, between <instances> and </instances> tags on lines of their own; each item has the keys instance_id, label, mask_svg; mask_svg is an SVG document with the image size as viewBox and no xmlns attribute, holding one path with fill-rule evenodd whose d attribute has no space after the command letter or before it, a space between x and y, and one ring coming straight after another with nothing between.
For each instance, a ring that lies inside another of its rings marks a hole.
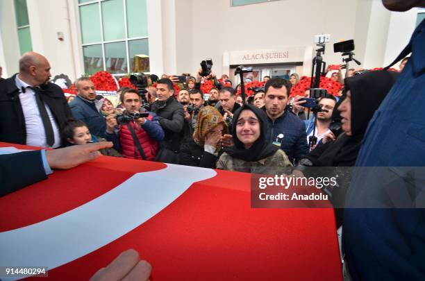
<instances>
[{"instance_id":1,"label":"man with short greying hair in blue jacket beside bald man","mask_svg":"<svg viewBox=\"0 0 425 281\"><path fill-rule=\"evenodd\" d=\"M72 115L87 124L90 133L97 137L106 137L106 120L101 114L101 101L96 99L96 88L88 77L78 78L75 82L77 96L71 103ZM125 90L123 90L124 92Z\"/></svg>"}]
</instances>

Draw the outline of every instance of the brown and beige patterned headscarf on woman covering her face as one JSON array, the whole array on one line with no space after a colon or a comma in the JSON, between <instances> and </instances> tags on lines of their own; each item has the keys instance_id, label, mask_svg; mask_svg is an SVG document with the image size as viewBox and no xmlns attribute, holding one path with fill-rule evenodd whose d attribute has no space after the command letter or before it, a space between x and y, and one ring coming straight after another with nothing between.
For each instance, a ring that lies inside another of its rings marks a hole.
<instances>
[{"instance_id":1,"label":"brown and beige patterned headscarf on woman covering her face","mask_svg":"<svg viewBox=\"0 0 425 281\"><path fill-rule=\"evenodd\" d=\"M226 122L224 121L224 118L222 114L217 110L217 108L214 108L213 106L205 106L202 108L197 117L197 123L195 124L194 133L193 133L193 140L196 142L199 146L203 147L205 144L205 137L217 125L223 124L224 130L223 133L228 133L228 127ZM219 144L217 144L217 151L219 150Z\"/></svg>"}]
</instances>

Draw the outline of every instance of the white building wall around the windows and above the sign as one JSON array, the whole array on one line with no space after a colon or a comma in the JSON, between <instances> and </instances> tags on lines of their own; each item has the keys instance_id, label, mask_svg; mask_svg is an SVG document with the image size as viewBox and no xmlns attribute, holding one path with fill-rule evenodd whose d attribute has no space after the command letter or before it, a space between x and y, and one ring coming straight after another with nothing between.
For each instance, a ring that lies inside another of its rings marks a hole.
<instances>
[{"instance_id":1,"label":"white building wall around the windows and above the sign","mask_svg":"<svg viewBox=\"0 0 425 281\"><path fill-rule=\"evenodd\" d=\"M84 72L77 2L27 0L33 50L49 59L53 75L72 79ZM383 67L407 44L416 21L416 10L389 12L381 0L281 0L239 7L231 7L230 0L147 0L147 10L151 73L158 75L195 74L206 58L213 58L217 75L228 73L229 52L311 50L313 36L321 33L331 34L328 64L342 63L333 43L354 39L362 66ZM7 77L18 71L20 56L11 0L0 0L0 35ZM310 66L305 68L309 73Z\"/></svg>"}]
</instances>

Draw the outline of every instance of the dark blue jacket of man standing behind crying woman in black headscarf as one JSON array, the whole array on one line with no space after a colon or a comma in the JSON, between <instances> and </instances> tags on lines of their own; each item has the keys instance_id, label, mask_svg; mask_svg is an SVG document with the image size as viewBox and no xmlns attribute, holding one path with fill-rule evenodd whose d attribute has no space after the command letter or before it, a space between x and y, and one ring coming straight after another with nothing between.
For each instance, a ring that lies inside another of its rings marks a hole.
<instances>
[{"instance_id":1,"label":"dark blue jacket of man standing behind crying woman in black headscarf","mask_svg":"<svg viewBox=\"0 0 425 281\"><path fill-rule=\"evenodd\" d=\"M283 134L281 149L292 163L297 163L308 154L306 127L295 114L285 110L285 113L274 122L269 117L267 121L269 122L267 142L274 142L279 134Z\"/></svg>"}]
</instances>

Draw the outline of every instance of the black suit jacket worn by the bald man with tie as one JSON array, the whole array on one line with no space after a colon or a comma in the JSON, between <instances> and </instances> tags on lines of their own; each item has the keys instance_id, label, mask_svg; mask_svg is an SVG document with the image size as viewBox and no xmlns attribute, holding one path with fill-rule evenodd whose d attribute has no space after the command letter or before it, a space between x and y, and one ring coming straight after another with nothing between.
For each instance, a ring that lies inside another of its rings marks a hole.
<instances>
[{"instance_id":1,"label":"black suit jacket worn by the bald man with tie","mask_svg":"<svg viewBox=\"0 0 425 281\"><path fill-rule=\"evenodd\" d=\"M24 112L14 76L0 83L0 142L26 144ZM42 100L49 106L59 128L72 118L67 99L58 85L48 83L40 90Z\"/></svg>"}]
</instances>

